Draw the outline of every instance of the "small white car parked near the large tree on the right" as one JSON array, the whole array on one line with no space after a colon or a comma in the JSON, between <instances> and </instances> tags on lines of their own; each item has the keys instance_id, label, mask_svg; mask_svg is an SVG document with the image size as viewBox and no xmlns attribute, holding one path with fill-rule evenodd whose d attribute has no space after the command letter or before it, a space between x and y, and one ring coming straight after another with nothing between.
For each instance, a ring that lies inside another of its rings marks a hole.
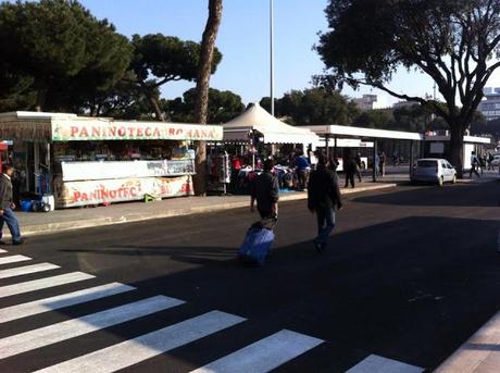
<instances>
[{"instance_id":1,"label":"small white car parked near the large tree on the right","mask_svg":"<svg viewBox=\"0 0 500 373\"><path fill-rule=\"evenodd\" d=\"M457 183L457 170L446 159L420 159L413 167L411 182L437 183L439 186L446 182L454 184Z\"/></svg>"}]
</instances>

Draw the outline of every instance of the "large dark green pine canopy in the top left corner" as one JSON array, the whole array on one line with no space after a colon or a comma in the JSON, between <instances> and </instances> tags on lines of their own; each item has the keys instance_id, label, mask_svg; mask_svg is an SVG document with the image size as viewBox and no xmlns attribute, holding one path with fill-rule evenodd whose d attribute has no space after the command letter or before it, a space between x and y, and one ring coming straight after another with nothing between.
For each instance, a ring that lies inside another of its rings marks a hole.
<instances>
[{"instance_id":1,"label":"large dark green pine canopy in the top left corner","mask_svg":"<svg viewBox=\"0 0 500 373\"><path fill-rule=\"evenodd\" d=\"M0 55L2 75L16 82L10 89L30 80L38 110L47 102L61 110L113 86L128 67L132 48L78 1L18 1L0 4Z\"/></svg>"}]
</instances>

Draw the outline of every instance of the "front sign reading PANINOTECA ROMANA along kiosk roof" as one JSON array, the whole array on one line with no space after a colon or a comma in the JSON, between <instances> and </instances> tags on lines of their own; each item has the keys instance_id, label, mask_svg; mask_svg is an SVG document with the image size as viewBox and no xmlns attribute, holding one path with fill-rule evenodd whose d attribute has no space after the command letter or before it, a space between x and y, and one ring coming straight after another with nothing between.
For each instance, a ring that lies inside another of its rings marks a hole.
<instances>
[{"instance_id":1,"label":"front sign reading PANINOTECA ROMANA along kiosk roof","mask_svg":"<svg viewBox=\"0 0 500 373\"><path fill-rule=\"evenodd\" d=\"M52 122L53 141L86 140L205 140L220 141L217 125L165 122L64 121Z\"/></svg>"}]
</instances>

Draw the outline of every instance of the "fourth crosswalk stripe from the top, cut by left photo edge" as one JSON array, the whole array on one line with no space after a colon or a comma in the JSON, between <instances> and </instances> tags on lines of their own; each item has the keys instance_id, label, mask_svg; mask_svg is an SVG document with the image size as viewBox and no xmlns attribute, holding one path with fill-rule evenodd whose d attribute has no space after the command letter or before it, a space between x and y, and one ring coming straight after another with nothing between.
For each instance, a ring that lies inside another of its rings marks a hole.
<instances>
[{"instance_id":1,"label":"fourth crosswalk stripe from the top, cut by left photo edge","mask_svg":"<svg viewBox=\"0 0 500 373\"><path fill-rule=\"evenodd\" d=\"M27 303L7 307L0 309L0 323L7 323L9 321L32 316L47 311L58 310L64 307L79 304L90 300L105 298L135 289L135 287L128 285L111 283L59 295L55 297L39 299Z\"/></svg>"}]
</instances>

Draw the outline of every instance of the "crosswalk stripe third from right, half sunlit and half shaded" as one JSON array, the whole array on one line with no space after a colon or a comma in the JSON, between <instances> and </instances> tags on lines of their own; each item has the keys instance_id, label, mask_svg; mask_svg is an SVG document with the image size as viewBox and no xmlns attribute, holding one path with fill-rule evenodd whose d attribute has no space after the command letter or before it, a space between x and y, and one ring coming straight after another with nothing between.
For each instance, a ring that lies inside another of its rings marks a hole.
<instances>
[{"instance_id":1,"label":"crosswalk stripe third from right, half sunlit and half shaded","mask_svg":"<svg viewBox=\"0 0 500 373\"><path fill-rule=\"evenodd\" d=\"M114 372L220 332L246 319L212 311L38 372Z\"/></svg>"}]
</instances>

